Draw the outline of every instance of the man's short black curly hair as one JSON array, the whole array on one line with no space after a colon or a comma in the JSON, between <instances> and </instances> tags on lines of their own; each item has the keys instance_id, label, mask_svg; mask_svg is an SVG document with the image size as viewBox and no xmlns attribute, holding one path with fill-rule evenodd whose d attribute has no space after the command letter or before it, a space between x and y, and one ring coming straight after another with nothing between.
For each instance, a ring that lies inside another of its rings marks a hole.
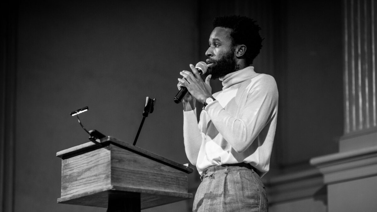
<instances>
[{"instance_id":1,"label":"man's short black curly hair","mask_svg":"<svg viewBox=\"0 0 377 212\"><path fill-rule=\"evenodd\" d=\"M259 35L261 28L255 22L239 15L216 17L213 20L213 28L224 27L232 30L230 36L233 46L243 44L247 47L245 59L248 65L253 64L254 58L262 49L263 39Z\"/></svg>"}]
</instances>

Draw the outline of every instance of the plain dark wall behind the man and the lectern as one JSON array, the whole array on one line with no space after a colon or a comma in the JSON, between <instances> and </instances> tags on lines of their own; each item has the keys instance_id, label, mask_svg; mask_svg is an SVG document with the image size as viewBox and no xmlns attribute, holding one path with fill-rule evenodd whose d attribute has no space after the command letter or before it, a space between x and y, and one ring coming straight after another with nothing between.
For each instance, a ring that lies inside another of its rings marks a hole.
<instances>
[{"instance_id":1,"label":"plain dark wall behind the man and the lectern","mask_svg":"<svg viewBox=\"0 0 377 212\"><path fill-rule=\"evenodd\" d=\"M86 128L132 143L145 98L156 98L137 146L188 163L182 106L173 97L179 71L205 60L211 22L219 15L257 20L265 39L254 66L273 75L279 88L278 126L265 180L306 169L310 158L338 151L343 134L340 1L77 0L5 6L2 138L12 145L7 154L14 159L14 172L2 199L11 199L14 211L106 211L56 203L61 160L55 154L87 142L86 132L69 115L84 106L89 111L80 118ZM211 83L214 91L221 89L218 81ZM190 175L191 192L198 177ZM190 204L145 211L184 211Z\"/></svg>"}]
</instances>

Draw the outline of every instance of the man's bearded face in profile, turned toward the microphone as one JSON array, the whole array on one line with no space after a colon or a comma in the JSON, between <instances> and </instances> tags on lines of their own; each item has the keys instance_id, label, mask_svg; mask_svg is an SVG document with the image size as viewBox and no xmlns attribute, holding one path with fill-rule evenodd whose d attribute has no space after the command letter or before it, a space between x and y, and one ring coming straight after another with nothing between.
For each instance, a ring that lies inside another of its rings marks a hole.
<instances>
[{"instance_id":1,"label":"man's bearded face in profile, turned toward the microphone","mask_svg":"<svg viewBox=\"0 0 377 212\"><path fill-rule=\"evenodd\" d=\"M216 27L213 29L209 47L205 52L207 56L207 75L212 74L212 79L225 76L236 71L236 59L234 56L234 46L230 37L231 29Z\"/></svg>"}]
</instances>

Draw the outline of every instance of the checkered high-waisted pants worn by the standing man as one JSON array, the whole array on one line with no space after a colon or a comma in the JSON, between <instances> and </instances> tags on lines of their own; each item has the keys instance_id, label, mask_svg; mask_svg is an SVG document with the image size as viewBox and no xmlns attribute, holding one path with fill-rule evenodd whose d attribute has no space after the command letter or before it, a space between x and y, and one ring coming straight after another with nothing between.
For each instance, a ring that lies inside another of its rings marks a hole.
<instances>
[{"instance_id":1,"label":"checkered high-waisted pants worn by the standing man","mask_svg":"<svg viewBox=\"0 0 377 212\"><path fill-rule=\"evenodd\" d=\"M268 211L265 187L250 164L212 166L200 178L194 212Z\"/></svg>"}]
</instances>

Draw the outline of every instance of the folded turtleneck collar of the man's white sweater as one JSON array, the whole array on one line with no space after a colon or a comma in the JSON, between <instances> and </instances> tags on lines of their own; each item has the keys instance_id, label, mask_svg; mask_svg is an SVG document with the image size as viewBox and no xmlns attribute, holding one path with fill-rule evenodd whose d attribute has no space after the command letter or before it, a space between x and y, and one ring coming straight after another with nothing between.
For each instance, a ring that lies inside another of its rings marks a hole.
<instances>
[{"instance_id":1,"label":"folded turtleneck collar of the man's white sweater","mask_svg":"<svg viewBox=\"0 0 377 212\"><path fill-rule=\"evenodd\" d=\"M238 84L253 78L255 75L257 75L257 73L255 73L254 67L247 66L244 69L229 73L224 77L220 77L219 80L222 81L222 90L225 90L234 84Z\"/></svg>"}]
</instances>

